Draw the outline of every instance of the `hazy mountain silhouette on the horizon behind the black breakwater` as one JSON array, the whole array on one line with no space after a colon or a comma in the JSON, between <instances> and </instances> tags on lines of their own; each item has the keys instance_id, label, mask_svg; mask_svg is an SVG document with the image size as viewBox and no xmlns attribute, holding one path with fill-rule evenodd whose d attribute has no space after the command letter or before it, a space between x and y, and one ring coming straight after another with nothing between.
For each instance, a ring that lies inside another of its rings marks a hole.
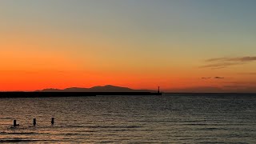
<instances>
[{"instance_id":1,"label":"hazy mountain silhouette on the horizon behind the black breakwater","mask_svg":"<svg viewBox=\"0 0 256 144\"><path fill-rule=\"evenodd\" d=\"M64 90L50 88L44 90L37 90L37 92L156 92L156 90L134 90L128 87L106 85L94 86L91 88L70 87Z\"/></svg>"}]
</instances>

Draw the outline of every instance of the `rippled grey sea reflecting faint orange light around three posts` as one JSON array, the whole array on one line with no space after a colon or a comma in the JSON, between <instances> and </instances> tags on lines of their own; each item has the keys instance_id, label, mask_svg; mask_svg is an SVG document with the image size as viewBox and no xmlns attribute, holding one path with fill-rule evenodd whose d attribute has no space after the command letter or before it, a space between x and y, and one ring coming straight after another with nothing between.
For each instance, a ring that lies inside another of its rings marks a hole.
<instances>
[{"instance_id":1,"label":"rippled grey sea reflecting faint orange light around three posts","mask_svg":"<svg viewBox=\"0 0 256 144\"><path fill-rule=\"evenodd\" d=\"M256 94L0 98L0 142L256 143Z\"/></svg>"}]
</instances>

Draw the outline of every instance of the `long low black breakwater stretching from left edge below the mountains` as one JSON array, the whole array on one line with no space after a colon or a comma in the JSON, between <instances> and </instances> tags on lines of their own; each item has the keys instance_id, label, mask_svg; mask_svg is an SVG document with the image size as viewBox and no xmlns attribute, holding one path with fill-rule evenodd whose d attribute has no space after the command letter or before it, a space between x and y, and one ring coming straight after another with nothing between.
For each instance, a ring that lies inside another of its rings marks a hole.
<instances>
[{"instance_id":1,"label":"long low black breakwater stretching from left edge below the mountains","mask_svg":"<svg viewBox=\"0 0 256 144\"><path fill-rule=\"evenodd\" d=\"M87 97L97 95L162 95L151 92L0 92L0 98Z\"/></svg>"}]
</instances>

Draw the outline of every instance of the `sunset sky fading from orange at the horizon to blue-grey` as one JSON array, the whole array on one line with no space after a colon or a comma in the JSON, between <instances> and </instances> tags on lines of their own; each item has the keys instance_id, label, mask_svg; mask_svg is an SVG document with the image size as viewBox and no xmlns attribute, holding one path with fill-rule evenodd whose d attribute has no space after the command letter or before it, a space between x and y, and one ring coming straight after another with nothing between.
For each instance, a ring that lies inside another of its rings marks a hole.
<instances>
[{"instance_id":1,"label":"sunset sky fading from orange at the horizon to blue-grey","mask_svg":"<svg viewBox=\"0 0 256 144\"><path fill-rule=\"evenodd\" d=\"M0 90L256 92L255 0L1 0Z\"/></svg>"}]
</instances>

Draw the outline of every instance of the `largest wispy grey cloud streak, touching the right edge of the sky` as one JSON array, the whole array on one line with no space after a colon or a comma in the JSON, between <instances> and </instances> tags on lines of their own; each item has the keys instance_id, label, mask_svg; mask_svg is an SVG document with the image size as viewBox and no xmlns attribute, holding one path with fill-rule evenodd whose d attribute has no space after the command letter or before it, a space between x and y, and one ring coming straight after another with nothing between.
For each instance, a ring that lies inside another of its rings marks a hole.
<instances>
[{"instance_id":1,"label":"largest wispy grey cloud streak, touching the right edge of the sky","mask_svg":"<svg viewBox=\"0 0 256 144\"><path fill-rule=\"evenodd\" d=\"M256 61L256 57L238 57L238 58L210 58L206 59L206 65L202 68L222 69L228 66L243 65L248 62Z\"/></svg>"}]
</instances>

